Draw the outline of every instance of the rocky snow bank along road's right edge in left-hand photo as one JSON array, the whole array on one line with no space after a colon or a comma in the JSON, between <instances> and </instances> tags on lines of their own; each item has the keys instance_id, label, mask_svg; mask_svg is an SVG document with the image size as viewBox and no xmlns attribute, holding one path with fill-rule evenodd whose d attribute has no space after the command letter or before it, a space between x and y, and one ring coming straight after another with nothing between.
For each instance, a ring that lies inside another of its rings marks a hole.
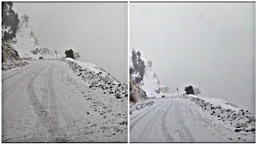
<instances>
[{"instance_id":1,"label":"rocky snow bank along road's right edge in left-hand photo","mask_svg":"<svg viewBox=\"0 0 256 144\"><path fill-rule=\"evenodd\" d=\"M90 62L80 62L73 58L62 60L68 62L74 73L88 83L89 88L100 88L104 94L114 94L116 98L127 98L127 84L118 82L101 67Z\"/></svg>"}]
</instances>

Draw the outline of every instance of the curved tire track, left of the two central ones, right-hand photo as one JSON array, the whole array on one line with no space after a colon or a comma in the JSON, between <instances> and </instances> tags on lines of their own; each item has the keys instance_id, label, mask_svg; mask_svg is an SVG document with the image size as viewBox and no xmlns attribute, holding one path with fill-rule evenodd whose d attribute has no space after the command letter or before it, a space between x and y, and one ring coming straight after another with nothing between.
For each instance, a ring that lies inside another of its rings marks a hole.
<instances>
[{"instance_id":1,"label":"curved tire track, left of the two central ones, right-hand photo","mask_svg":"<svg viewBox=\"0 0 256 144\"><path fill-rule=\"evenodd\" d=\"M174 138L170 136L170 133L168 132L167 126L166 126L166 115L168 114L170 108L171 108L172 103L169 104L168 108L165 111L165 114L163 114L163 117L161 119L161 130L162 134L166 138L167 142L174 142Z\"/></svg>"}]
</instances>

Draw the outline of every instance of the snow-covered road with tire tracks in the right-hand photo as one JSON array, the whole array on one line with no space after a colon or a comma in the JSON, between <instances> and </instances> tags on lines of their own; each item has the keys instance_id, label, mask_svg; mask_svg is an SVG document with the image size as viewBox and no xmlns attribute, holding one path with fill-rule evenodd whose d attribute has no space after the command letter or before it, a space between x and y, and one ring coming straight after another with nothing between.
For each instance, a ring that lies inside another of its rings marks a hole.
<instances>
[{"instance_id":1,"label":"snow-covered road with tire tracks in the right-hand photo","mask_svg":"<svg viewBox=\"0 0 256 144\"><path fill-rule=\"evenodd\" d=\"M255 142L207 117L184 98L156 100L130 115L130 142Z\"/></svg>"}]
</instances>

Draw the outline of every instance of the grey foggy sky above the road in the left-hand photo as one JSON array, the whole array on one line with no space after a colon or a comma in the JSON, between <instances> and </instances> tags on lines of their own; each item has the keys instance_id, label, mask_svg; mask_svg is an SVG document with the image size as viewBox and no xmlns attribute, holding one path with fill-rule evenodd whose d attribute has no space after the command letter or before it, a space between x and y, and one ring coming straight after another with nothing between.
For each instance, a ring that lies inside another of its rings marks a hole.
<instances>
[{"instance_id":1,"label":"grey foggy sky above the road in the left-hand photo","mask_svg":"<svg viewBox=\"0 0 256 144\"><path fill-rule=\"evenodd\" d=\"M39 46L61 54L72 48L127 82L127 3L14 2L14 9L29 14Z\"/></svg>"}]
</instances>

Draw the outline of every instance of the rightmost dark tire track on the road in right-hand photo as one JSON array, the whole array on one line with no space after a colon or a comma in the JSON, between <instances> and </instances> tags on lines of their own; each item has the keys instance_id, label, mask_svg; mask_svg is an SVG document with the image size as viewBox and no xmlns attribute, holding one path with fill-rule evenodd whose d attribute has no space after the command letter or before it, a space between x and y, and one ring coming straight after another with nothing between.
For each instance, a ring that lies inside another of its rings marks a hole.
<instances>
[{"instance_id":1,"label":"rightmost dark tire track on the road in right-hand photo","mask_svg":"<svg viewBox=\"0 0 256 144\"><path fill-rule=\"evenodd\" d=\"M179 127L179 130L185 134L181 134L181 138L183 142L195 142L190 130L186 127L185 122L183 121L179 102L175 103L175 122Z\"/></svg>"}]
</instances>

